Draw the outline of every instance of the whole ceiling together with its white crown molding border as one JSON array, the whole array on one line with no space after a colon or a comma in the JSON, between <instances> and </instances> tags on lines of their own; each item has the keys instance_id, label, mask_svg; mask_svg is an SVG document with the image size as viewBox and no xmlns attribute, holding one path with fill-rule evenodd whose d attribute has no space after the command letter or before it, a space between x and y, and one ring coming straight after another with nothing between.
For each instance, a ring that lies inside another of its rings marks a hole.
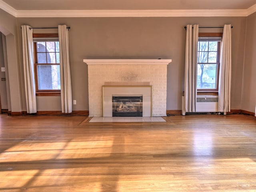
<instances>
[{"instance_id":1,"label":"whole ceiling together with its white crown molding border","mask_svg":"<svg viewBox=\"0 0 256 192\"><path fill-rule=\"evenodd\" d=\"M256 0L0 0L15 17L248 16Z\"/></svg>"}]
</instances>

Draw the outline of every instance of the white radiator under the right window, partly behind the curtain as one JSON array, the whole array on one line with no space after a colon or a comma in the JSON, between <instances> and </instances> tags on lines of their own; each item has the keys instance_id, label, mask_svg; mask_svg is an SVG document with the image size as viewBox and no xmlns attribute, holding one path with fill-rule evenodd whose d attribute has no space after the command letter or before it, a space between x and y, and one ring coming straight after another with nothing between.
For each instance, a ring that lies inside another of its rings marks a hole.
<instances>
[{"instance_id":1,"label":"white radiator under the right window, partly behind the curtain","mask_svg":"<svg viewBox=\"0 0 256 192\"><path fill-rule=\"evenodd\" d=\"M184 96L182 96L182 115L185 115ZM196 112L218 112L218 96L198 95L196 97Z\"/></svg>"}]
</instances>

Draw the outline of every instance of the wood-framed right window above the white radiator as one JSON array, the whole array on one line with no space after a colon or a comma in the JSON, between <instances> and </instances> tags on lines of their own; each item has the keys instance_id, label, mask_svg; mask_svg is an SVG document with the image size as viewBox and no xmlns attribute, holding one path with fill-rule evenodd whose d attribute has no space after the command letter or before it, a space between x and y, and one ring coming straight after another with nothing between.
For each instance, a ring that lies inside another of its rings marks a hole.
<instances>
[{"instance_id":1,"label":"wood-framed right window above the white radiator","mask_svg":"<svg viewBox=\"0 0 256 192\"><path fill-rule=\"evenodd\" d=\"M199 33L198 37L198 92L217 92L220 69L220 33Z\"/></svg>"}]
</instances>

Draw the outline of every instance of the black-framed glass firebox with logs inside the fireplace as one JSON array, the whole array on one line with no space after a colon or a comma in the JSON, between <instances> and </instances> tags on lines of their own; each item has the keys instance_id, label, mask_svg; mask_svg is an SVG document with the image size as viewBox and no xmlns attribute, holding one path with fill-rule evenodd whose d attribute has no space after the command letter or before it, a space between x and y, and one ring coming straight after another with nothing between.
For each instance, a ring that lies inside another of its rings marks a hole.
<instances>
[{"instance_id":1,"label":"black-framed glass firebox with logs inside the fireplace","mask_svg":"<svg viewBox=\"0 0 256 192\"><path fill-rule=\"evenodd\" d=\"M142 117L142 96L112 96L112 117Z\"/></svg>"}]
</instances>

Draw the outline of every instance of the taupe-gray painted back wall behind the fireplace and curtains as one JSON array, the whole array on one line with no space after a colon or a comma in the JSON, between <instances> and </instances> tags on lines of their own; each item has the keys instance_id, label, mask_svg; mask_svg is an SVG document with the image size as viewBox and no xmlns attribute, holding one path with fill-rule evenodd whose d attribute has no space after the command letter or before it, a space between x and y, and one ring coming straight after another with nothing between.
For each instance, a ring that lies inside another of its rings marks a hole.
<instances>
[{"instance_id":1,"label":"taupe-gray painted back wall behind the fireplace and curtains","mask_svg":"<svg viewBox=\"0 0 256 192\"><path fill-rule=\"evenodd\" d=\"M23 24L33 27L66 24L71 27L69 38L72 95L77 103L73 106L73 110L88 110L88 72L83 59L97 58L171 58L172 63L168 65L167 110L181 110L186 39L184 26L195 23L200 26L223 26L224 24L234 26L232 29L232 84L234 86L232 86L231 105L232 109L240 109L245 17L17 19L18 28ZM42 30L34 30L34 32L42 32ZM220 29L200 29L200 32L220 32ZM21 52L21 31L19 31L18 40ZM37 100L39 101L40 98L38 97ZM51 109L50 103L45 107L48 110ZM41 109L38 108L38 110Z\"/></svg>"}]
</instances>

